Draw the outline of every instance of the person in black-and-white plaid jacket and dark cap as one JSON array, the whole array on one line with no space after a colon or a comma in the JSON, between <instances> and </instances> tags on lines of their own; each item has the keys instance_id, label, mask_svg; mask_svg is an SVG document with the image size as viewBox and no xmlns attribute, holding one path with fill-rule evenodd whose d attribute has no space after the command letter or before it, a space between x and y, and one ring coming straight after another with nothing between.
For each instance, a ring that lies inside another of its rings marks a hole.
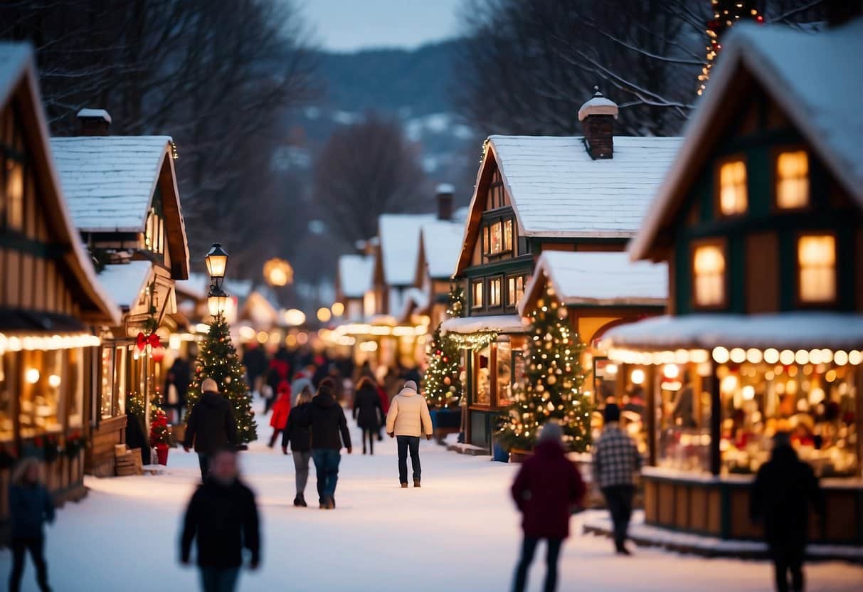
<instances>
[{"instance_id":1,"label":"person in black-and-white plaid jacket and dark cap","mask_svg":"<svg viewBox=\"0 0 863 592\"><path fill-rule=\"evenodd\" d=\"M602 491L614 522L614 548L620 555L629 555L627 540L629 519L633 513L634 477L641 468L638 447L620 429L620 407L605 406L605 426L594 445L594 483Z\"/></svg>"}]
</instances>

